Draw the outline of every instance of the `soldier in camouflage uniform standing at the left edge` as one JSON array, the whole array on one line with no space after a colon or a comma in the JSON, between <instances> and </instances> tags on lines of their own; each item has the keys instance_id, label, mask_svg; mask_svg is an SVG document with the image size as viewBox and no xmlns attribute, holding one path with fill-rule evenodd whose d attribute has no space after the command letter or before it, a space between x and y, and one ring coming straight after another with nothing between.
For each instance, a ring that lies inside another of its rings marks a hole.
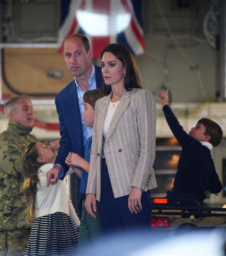
<instances>
[{"instance_id":1,"label":"soldier in camouflage uniform standing at the left edge","mask_svg":"<svg viewBox=\"0 0 226 256\"><path fill-rule=\"evenodd\" d=\"M24 255L31 230L22 193L21 154L37 139L30 134L34 115L29 97L10 99L4 110L9 124L0 134L0 255L15 256Z\"/></svg>"}]
</instances>

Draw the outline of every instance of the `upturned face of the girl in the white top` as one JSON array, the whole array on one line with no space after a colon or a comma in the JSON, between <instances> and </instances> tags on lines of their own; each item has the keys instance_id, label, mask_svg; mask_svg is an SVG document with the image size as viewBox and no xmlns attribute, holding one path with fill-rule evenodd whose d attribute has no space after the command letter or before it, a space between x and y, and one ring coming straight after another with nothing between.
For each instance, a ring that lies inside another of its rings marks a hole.
<instances>
[{"instance_id":1,"label":"upturned face of the girl in the white top","mask_svg":"<svg viewBox=\"0 0 226 256\"><path fill-rule=\"evenodd\" d=\"M54 163L56 152L51 148L51 146L46 146L40 141L37 141L35 147L39 152L38 160L42 160L44 163Z\"/></svg>"}]
</instances>

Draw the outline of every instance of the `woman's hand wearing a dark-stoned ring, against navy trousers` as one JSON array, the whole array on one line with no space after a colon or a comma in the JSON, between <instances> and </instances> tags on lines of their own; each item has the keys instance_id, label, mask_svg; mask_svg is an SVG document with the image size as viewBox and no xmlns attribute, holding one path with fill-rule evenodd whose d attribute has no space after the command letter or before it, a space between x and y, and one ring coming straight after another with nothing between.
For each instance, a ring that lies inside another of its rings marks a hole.
<instances>
[{"instance_id":1,"label":"woman's hand wearing a dark-stoned ring, against navy trousers","mask_svg":"<svg viewBox=\"0 0 226 256\"><path fill-rule=\"evenodd\" d=\"M139 213L142 210L141 196L142 190L133 187L128 198L128 208L131 213Z\"/></svg>"}]
</instances>

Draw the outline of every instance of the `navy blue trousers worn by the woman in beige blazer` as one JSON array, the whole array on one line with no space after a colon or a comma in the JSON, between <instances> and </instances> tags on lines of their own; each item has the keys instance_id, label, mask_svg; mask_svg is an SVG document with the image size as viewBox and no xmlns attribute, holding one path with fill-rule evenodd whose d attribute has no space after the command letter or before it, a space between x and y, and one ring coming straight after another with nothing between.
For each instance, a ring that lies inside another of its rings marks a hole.
<instances>
[{"instance_id":1,"label":"navy blue trousers worn by the woman in beige blazer","mask_svg":"<svg viewBox=\"0 0 226 256\"><path fill-rule=\"evenodd\" d=\"M100 218L103 234L114 231L151 229L151 194L142 192L142 210L131 213L128 208L129 195L114 198L107 166L102 160Z\"/></svg>"}]
</instances>

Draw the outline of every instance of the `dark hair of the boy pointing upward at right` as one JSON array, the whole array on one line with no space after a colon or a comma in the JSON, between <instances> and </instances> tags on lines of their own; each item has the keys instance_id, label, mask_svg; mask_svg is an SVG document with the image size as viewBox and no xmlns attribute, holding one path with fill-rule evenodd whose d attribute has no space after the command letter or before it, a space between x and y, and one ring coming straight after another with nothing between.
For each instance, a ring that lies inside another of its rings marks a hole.
<instances>
[{"instance_id":1,"label":"dark hair of the boy pointing upward at right","mask_svg":"<svg viewBox=\"0 0 226 256\"><path fill-rule=\"evenodd\" d=\"M205 126L204 134L210 135L211 139L209 140L209 143L211 143L214 147L219 145L223 137L223 131L221 127L217 123L208 118L202 118L198 121L198 123L203 124Z\"/></svg>"}]
</instances>

